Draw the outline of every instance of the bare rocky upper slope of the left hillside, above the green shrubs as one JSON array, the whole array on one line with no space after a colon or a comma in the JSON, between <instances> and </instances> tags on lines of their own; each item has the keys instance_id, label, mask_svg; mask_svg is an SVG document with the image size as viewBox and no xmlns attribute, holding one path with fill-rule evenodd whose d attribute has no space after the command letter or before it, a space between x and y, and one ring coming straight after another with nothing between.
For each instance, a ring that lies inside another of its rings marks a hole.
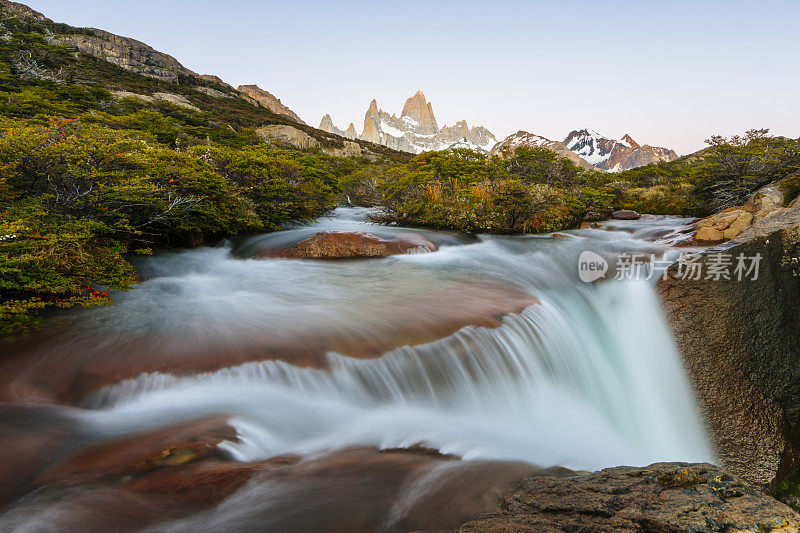
<instances>
[{"instance_id":1,"label":"bare rocky upper slope of the left hillside, above the green shrubs","mask_svg":"<svg viewBox=\"0 0 800 533\"><path fill-rule=\"evenodd\" d=\"M136 39L54 22L25 5L8 0L0 0L0 10L35 21L36 27L31 26L31 31L41 31L49 46L65 47L77 61L76 67L67 70L55 63L50 65L52 58L46 57L44 52L38 53L40 57L15 53L10 58L13 72L32 83L102 88L111 91L119 100L135 99L156 106L166 102L196 113L210 113L213 123L226 125L237 133L242 128L282 125L285 127L281 128L280 135L262 132L261 138L283 143L300 139L298 144L292 145L295 148L311 146L336 156L408 159L407 154L385 146L359 139L348 140L310 127L271 93L255 85L235 89L218 76L197 74L171 55ZM13 38L3 28L0 34L5 42Z\"/></svg>"}]
</instances>

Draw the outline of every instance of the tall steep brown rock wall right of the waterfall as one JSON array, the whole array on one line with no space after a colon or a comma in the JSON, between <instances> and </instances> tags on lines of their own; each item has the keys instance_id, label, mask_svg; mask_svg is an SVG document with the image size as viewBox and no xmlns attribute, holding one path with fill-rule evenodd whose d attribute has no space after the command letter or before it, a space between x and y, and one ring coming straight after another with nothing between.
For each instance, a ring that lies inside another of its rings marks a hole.
<instances>
[{"instance_id":1,"label":"tall steep brown rock wall right of the waterfall","mask_svg":"<svg viewBox=\"0 0 800 533\"><path fill-rule=\"evenodd\" d=\"M697 264L760 254L757 279L677 279L674 265L657 289L720 459L774 488L800 466L800 208L754 218Z\"/></svg>"}]
</instances>

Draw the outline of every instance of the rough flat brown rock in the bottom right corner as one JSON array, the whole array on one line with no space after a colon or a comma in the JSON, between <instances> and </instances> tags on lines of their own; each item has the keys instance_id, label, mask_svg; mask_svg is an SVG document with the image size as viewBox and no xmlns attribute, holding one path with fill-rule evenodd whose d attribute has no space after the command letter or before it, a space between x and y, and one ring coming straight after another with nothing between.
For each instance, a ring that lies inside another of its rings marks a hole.
<instances>
[{"instance_id":1,"label":"rough flat brown rock in the bottom right corner","mask_svg":"<svg viewBox=\"0 0 800 533\"><path fill-rule=\"evenodd\" d=\"M458 531L797 531L800 515L709 464L657 463L522 481Z\"/></svg>"}]
</instances>

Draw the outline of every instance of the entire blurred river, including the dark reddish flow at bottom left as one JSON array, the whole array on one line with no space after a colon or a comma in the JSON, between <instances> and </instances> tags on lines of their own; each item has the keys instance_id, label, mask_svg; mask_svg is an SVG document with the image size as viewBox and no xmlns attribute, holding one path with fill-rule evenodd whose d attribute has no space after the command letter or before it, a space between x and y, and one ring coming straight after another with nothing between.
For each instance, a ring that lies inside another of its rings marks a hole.
<instances>
[{"instance_id":1,"label":"entire blurred river, including the dark reddish flow at bottom left","mask_svg":"<svg viewBox=\"0 0 800 533\"><path fill-rule=\"evenodd\" d=\"M22 486L44 485L0 530L452 530L539 467L712 459L652 280L611 279L618 254L676 256L683 221L474 238L363 216L145 259L114 305L15 347L0 373L36 401L0 432ZM320 230L414 231L439 250L252 258ZM579 279L585 251L607 280ZM37 405L48 394L72 407ZM198 444L208 425L221 444Z\"/></svg>"}]
</instances>

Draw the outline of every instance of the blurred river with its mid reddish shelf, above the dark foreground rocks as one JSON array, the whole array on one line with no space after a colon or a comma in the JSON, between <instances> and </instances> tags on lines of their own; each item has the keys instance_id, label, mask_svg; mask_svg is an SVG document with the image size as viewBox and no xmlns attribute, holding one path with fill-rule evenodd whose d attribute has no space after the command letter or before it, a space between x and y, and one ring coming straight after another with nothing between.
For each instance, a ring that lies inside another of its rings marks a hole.
<instances>
[{"instance_id":1,"label":"blurred river with its mid reddish shelf, above the dark foreground rocks","mask_svg":"<svg viewBox=\"0 0 800 533\"><path fill-rule=\"evenodd\" d=\"M622 253L674 257L654 241L684 220L472 237L364 215L340 208L235 245L141 259L141 284L26 345L11 383L64 406L70 453L219 414L238 434L220 448L243 462L414 445L475 465L713 460L654 281L587 283L577 270L587 250L612 265L607 278ZM253 258L323 229L416 231L439 250ZM4 520L41 525L21 510Z\"/></svg>"}]
</instances>

